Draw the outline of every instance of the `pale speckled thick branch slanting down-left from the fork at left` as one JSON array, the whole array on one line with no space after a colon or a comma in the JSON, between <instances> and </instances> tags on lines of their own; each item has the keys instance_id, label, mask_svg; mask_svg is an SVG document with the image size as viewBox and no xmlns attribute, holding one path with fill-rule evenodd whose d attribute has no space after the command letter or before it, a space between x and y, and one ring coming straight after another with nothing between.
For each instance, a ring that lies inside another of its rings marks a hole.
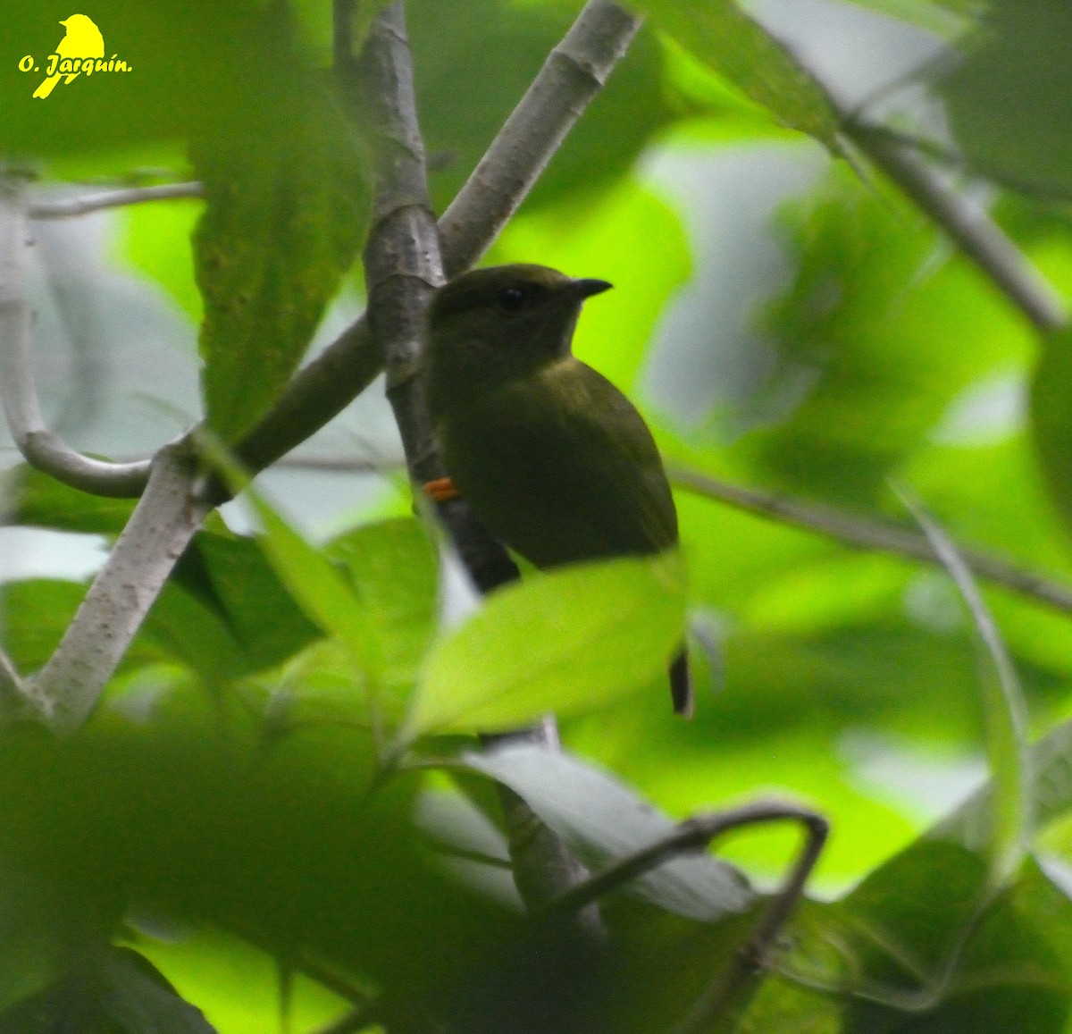
<instances>
[{"instance_id":1,"label":"pale speckled thick branch slanting down-left from the fork at left","mask_svg":"<svg viewBox=\"0 0 1072 1034\"><path fill-rule=\"evenodd\" d=\"M41 717L57 733L74 732L89 715L205 519L208 507L194 499L195 478L185 443L155 455L131 519L56 651L29 682Z\"/></svg>"}]
</instances>

